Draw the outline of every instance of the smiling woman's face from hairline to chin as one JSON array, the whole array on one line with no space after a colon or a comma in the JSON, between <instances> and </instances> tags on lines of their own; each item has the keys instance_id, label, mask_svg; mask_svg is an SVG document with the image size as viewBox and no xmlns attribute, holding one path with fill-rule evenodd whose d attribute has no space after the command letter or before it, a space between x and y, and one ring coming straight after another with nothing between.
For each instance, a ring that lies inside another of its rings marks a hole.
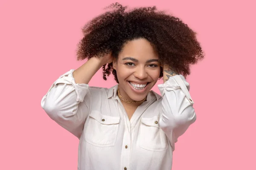
<instances>
[{"instance_id":1,"label":"smiling woman's face from hairline to chin","mask_svg":"<svg viewBox=\"0 0 256 170\"><path fill-rule=\"evenodd\" d=\"M143 100L160 76L157 53L145 39L125 43L113 68L119 81L119 91L125 99Z\"/></svg>"}]
</instances>

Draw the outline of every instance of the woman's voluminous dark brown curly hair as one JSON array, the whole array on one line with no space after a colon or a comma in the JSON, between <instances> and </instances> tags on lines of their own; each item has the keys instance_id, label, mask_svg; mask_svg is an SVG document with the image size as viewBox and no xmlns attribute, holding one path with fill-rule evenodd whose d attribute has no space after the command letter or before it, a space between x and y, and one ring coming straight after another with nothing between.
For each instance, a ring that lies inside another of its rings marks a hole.
<instances>
[{"instance_id":1,"label":"woman's voluminous dark brown curly hair","mask_svg":"<svg viewBox=\"0 0 256 170\"><path fill-rule=\"evenodd\" d=\"M190 74L190 64L204 58L196 33L179 18L157 11L156 6L127 11L127 6L115 3L106 9L111 10L95 17L83 27L84 37L78 44L78 60L103 57L110 52L117 58L125 42L139 38L151 42L161 65L169 65L184 77ZM113 63L107 67L103 65L103 79L107 80L106 76L111 71L119 83Z\"/></svg>"}]
</instances>

